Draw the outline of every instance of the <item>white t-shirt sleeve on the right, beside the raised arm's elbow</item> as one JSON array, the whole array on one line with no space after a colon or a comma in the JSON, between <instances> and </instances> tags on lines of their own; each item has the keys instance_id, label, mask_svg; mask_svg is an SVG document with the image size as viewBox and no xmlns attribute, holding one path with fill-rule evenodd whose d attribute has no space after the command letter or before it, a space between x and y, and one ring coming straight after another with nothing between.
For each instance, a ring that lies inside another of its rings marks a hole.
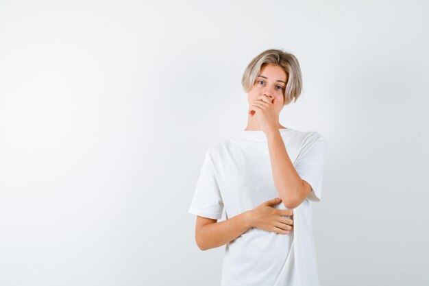
<instances>
[{"instance_id":1,"label":"white t-shirt sleeve on the right, beside the raised arm's elbow","mask_svg":"<svg viewBox=\"0 0 429 286\"><path fill-rule=\"evenodd\" d=\"M318 134L316 132L316 134ZM323 136L310 144L304 144L301 152L295 161L295 169L302 180L310 184L312 190L307 199L313 202L320 202L321 187L323 180L323 165L326 158L326 149L328 144Z\"/></svg>"}]
</instances>

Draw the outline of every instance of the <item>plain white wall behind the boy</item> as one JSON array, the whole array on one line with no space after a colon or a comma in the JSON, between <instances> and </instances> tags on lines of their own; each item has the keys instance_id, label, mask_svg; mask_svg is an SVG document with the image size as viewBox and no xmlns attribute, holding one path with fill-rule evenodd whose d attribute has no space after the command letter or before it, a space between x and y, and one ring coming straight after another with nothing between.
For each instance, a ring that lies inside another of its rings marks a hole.
<instances>
[{"instance_id":1,"label":"plain white wall behind the boy","mask_svg":"<svg viewBox=\"0 0 429 286\"><path fill-rule=\"evenodd\" d=\"M1 1L0 285L219 285L187 210L271 48L303 73L280 122L328 141L321 284L428 285L428 8Z\"/></svg>"}]
</instances>

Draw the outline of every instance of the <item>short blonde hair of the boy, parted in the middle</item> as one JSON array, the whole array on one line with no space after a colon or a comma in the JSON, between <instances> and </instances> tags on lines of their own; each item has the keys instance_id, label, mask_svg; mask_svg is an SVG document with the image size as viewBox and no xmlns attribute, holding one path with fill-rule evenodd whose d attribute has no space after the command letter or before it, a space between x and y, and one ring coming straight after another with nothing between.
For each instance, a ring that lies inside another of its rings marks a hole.
<instances>
[{"instance_id":1,"label":"short blonde hair of the boy, parted in the middle","mask_svg":"<svg viewBox=\"0 0 429 286\"><path fill-rule=\"evenodd\" d=\"M245 93L249 93L255 84L256 77L264 64L278 64L284 69L287 75L286 88L284 91L284 105L296 102L302 92L302 75L299 68L299 62L292 53L282 51L281 49L267 49L258 54L252 62L249 63L241 85Z\"/></svg>"}]
</instances>

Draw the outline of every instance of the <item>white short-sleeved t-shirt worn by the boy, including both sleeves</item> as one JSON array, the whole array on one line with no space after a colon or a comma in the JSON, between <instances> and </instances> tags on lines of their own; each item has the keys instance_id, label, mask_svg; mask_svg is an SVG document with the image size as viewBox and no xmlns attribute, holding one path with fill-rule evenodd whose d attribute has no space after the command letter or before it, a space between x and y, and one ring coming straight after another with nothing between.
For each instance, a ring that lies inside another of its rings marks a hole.
<instances>
[{"instance_id":1,"label":"white short-sleeved t-shirt worn by the boy, including both sleeves","mask_svg":"<svg viewBox=\"0 0 429 286\"><path fill-rule=\"evenodd\" d=\"M319 132L279 131L312 191L293 209L294 230L288 235L249 228L225 245L221 286L319 286L310 200L321 199L326 139ZM265 132L243 130L208 148L188 212L220 219L225 208L229 219L278 196ZM283 202L273 207L288 209Z\"/></svg>"}]
</instances>

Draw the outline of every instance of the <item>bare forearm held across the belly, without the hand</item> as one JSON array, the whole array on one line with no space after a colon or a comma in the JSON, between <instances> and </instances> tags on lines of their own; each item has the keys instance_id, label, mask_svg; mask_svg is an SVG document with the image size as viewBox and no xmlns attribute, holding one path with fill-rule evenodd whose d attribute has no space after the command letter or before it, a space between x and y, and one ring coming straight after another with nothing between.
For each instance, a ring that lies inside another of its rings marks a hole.
<instances>
[{"instance_id":1,"label":"bare forearm held across the belly, without the hand","mask_svg":"<svg viewBox=\"0 0 429 286\"><path fill-rule=\"evenodd\" d=\"M250 228L249 219L249 211L245 211L223 222L206 224L199 230L199 248L201 250L217 248L236 239Z\"/></svg>"}]
</instances>

